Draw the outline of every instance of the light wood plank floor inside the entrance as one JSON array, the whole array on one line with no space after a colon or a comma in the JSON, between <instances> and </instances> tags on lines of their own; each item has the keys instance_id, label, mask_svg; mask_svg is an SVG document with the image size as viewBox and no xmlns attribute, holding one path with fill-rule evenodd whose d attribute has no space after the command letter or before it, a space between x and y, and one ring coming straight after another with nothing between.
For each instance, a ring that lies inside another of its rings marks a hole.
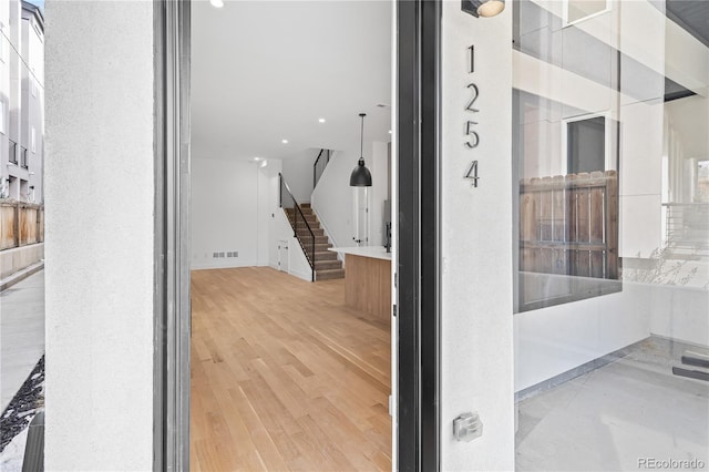
<instances>
[{"instance_id":1,"label":"light wood plank floor inside the entrance","mask_svg":"<svg viewBox=\"0 0 709 472\"><path fill-rule=\"evenodd\" d=\"M390 328L345 281L192 274L193 471L391 470Z\"/></svg>"}]
</instances>

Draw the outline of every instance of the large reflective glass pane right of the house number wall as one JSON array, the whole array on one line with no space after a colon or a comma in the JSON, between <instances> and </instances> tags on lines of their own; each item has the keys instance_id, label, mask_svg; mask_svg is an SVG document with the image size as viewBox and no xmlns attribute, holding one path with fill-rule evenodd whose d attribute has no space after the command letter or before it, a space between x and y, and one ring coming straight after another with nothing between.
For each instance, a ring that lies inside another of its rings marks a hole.
<instances>
[{"instance_id":1,"label":"large reflective glass pane right of the house number wall","mask_svg":"<svg viewBox=\"0 0 709 472\"><path fill-rule=\"evenodd\" d=\"M564 4L513 2L516 470L706 470L709 1Z\"/></svg>"}]
</instances>

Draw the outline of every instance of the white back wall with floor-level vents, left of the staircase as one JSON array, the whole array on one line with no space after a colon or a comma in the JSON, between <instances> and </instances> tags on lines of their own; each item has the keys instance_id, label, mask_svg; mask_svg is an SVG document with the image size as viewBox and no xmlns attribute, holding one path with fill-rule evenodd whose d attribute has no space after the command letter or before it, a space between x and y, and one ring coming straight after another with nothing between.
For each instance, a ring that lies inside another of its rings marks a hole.
<instances>
[{"instance_id":1,"label":"white back wall with floor-level vents, left of the staircase","mask_svg":"<svg viewBox=\"0 0 709 472\"><path fill-rule=\"evenodd\" d=\"M264 209L267 196L259 193L260 168L258 163L248 161L193 158L193 269L258 265L259 229L264 230L258 209ZM268 239L267 235L263 237ZM238 257L215 258L215 252L238 252Z\"/></svg>"}]
</instances>

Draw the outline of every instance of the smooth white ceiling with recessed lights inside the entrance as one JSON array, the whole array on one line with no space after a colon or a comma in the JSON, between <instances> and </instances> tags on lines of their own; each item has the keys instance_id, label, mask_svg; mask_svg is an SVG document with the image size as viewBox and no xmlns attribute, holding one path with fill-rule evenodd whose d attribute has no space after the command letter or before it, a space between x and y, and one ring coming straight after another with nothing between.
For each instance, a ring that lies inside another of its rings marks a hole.
<instances>
[{"instance_id":1,"label":"smooth white ceiling with recessed lights inside the entrance","mask_svg":"<svg viewBox=\"0 0 709 472\"><path fill-rule=\"evenodd\" d=\"M364 140L389 141L391 2L225 3L192 3L194 157L358 148L360 112Z\"/></svg>"}]
</instances>

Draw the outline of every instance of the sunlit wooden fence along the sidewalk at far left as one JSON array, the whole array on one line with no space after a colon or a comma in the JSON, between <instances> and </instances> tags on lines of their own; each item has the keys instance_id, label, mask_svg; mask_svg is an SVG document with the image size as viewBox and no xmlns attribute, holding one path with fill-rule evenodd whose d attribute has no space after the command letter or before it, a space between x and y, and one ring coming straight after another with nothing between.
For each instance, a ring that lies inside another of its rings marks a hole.
<instances>
[{"instance_id":1,"label":"sunlit wooden fence along the sidewalk at far left","mask_svg":"<svg viewBox=\"0 0 709 472\"><path fill-rule=\"evenodd\" d=\"M0 250L44 242L44 207L0 199Z\"/></svg>"}]
</instances>

